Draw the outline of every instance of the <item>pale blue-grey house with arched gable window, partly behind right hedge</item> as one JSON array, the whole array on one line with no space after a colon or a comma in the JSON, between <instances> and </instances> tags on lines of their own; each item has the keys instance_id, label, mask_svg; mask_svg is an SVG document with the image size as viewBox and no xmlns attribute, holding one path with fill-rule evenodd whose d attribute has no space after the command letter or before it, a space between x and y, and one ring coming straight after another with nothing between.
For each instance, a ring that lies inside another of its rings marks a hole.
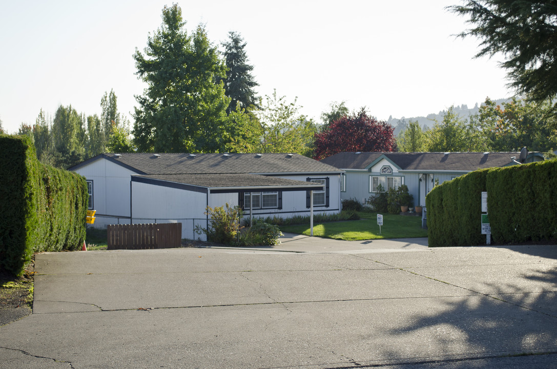
<instances>
[{"instance_id":1,"label":"pale blue-grey house with arched gable window, partly behind right hedge","mask_svg":"<svg viewBox=\"0 0 557 369\"><path fill-rule=\"evenodd\" d=\"M524 163L541 161L541 153L526 153ZM321 160L343 170L342 200L364 203L385 190L408 186L414 206L426 206L426 195L435 183L443 183L477 169L520 164L517 152L342 152Z\"/></svg>"}]
</instances>

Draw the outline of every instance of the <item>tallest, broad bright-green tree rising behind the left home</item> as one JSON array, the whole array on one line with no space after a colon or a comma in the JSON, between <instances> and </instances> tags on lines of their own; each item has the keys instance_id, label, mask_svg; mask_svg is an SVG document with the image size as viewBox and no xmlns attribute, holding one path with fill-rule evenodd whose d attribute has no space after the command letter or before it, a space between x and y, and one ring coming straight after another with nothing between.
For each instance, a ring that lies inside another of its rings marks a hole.
<instances>
[{"instance_id":1,"label":"tallest, broad bright-green tree rising behind the left home","mask_svg":"<svg viewBox=\"0 0 557 369\"><path fill-rule=\"evenodd\" d=\"M184 30L182 9L163 9L163 23L148 37L145 55L134 54L147 87L136 96L133 134L140 151L218 152L229 142L226 67L203 26Z\"/></svg>"}]
</instances>

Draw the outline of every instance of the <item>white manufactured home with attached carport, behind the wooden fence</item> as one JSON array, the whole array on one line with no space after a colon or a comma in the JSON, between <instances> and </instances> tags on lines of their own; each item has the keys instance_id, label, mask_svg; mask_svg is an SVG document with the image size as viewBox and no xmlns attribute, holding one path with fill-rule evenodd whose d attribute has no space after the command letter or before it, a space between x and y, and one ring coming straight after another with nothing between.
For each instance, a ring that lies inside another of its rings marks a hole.
<instances>
[{"instance_id":1,"label":"white manufactured home with attached carport, behind the wooden fence","mask_svg":"<svg viewBox=\"0 0 557 369\"><path fill-rule=\"evenodd\" d=\"M194 230L208 206L282 218L341 208L342 171L298 154L99 154L70 170L87 181L95 227L181 222L183 238L204 240Z\"/></svg>"}]
</instances>

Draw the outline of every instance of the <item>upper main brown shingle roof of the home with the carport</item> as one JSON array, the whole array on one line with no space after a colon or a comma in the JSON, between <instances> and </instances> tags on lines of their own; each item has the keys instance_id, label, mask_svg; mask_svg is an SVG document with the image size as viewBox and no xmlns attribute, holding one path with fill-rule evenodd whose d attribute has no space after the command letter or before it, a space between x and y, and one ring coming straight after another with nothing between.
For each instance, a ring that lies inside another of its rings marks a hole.
<instances>
[{"instance_id":1,"label":"upper main brown shingle roof of the home with the carport","mask_svg":"<svg viewBox=\"0 0 557 369\"><path fill-rule=\"evenodd\" d=\"M138 174L296 174L339 173L339 169L299 154L100 154L77 164L85 166L100 157L119 163Z\"/></svg>"}]
</instances>

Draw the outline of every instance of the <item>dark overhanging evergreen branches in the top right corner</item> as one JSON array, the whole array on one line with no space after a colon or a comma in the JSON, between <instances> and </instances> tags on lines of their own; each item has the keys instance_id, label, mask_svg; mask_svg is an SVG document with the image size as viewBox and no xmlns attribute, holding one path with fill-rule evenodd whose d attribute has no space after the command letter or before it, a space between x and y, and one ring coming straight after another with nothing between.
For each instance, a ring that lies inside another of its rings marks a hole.
<instances>
[{"instance_id":1,"label":"dark overhanging evergreen branches in the top right corner","mask_svg":"<svg viewBox=\"0 0 557 369\"><path fill-rule=\"evenodd\" d=\"M449 11L469 16L459 36L480 38L476 57L501 53L510 86L534 101L557 94L557 2L466 0ZM555 108L555 106L554 106Z\"/></svg>"}]
</instances>

